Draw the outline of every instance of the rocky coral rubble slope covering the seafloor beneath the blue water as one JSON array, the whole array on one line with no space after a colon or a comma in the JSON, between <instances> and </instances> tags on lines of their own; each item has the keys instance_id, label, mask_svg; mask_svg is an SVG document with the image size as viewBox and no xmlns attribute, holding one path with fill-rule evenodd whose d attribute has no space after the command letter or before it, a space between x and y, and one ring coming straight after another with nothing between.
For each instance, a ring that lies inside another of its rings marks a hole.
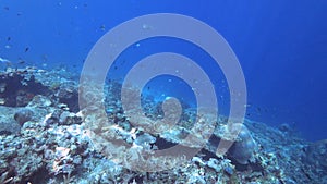
<instances>
[{"instance_id":1,"label":"rocky coral rubble slope covering the seafloor beneath the blue water","mask_svg":"<svg viewBox=\"0 0 327 184\"><path fill-rule=\"evenodd\" d=\"M235 128L227 118L197 119L186 108L178 124L154 126L160 107L143 99L147 116L130 119L116 82L105 88L104 118L92 105L78 109L78 82L66 76L36 68L0 72L0 183L327 183L327 142L306 142L287 124L245 120L233 125L240 132L231 140L221 133ZM95 94L81 98L99 98ZM214 130L208 143L204 126ZM220 140L233 142L223 155L216 152ZM198 151L153 158L175 145Z\"/></svg>"}]
</instances>

